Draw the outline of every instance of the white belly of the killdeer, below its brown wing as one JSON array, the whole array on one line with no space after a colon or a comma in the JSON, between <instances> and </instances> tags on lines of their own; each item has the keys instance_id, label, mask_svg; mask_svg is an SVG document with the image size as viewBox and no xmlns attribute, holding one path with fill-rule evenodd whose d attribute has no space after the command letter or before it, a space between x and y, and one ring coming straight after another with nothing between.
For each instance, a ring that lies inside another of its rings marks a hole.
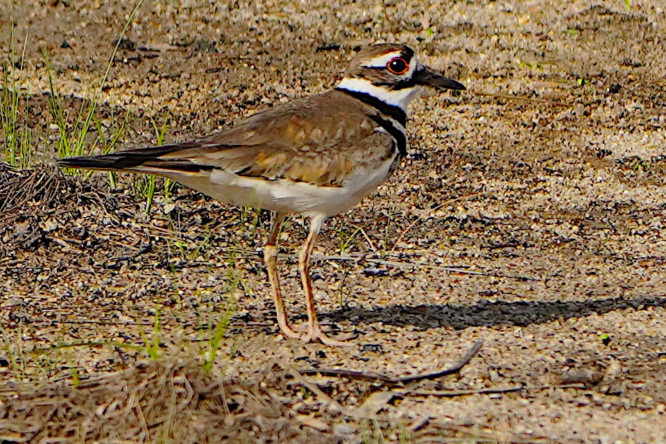
<instances>
[{"instance_id":1,"label":"white belly of the killdeer, below its brown wing","mask_svg":"<svg viewBox=\"0 0 666 444\"><path fill-rule=\"evenodd\" d=\"M196 176L187 173L165 176L223 203L282 213L334 216L349 210L372 193L388 178L394 161L395 157L373 171L359 171L342 187L317 187L287 179L248 178L225 170Z\"/></svg>"}]
</instances>

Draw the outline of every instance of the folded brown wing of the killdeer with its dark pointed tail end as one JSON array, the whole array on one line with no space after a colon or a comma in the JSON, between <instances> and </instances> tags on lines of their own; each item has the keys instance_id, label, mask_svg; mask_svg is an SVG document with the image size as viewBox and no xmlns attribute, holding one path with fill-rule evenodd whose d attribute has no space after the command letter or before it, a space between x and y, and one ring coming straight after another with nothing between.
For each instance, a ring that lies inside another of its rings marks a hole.
<instances>
[{"instance_id":1,"label":"folded brown wing of the killdeer with its dark pointed tail end","mask_svg":"<svg viewBox=\"0 0 666 444\"><path fill-rule=\"evenodd\" d=\"M155 174L226 169L241 176L336 187L352 171L375 169L395 155L393 138L376 130L377 123L363 106L330 91L264 110L230 130L185 144L78 157L60 164Z\"/></svg>"}]
</instances>

